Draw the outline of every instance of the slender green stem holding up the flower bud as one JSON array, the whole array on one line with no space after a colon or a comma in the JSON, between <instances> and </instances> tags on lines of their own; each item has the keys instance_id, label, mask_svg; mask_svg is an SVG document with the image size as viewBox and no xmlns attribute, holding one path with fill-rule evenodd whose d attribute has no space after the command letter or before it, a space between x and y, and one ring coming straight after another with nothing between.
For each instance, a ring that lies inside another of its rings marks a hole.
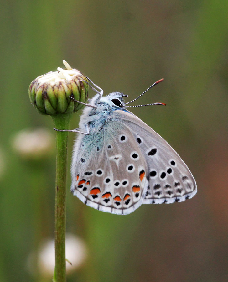
<instances>
[{"instance_id":1,"label":"slender green stem holding up the flower bud","mask_svg":"<svg viewBox=\"0 0 228 282\"><path fill-rule=\"evenodd\" d=\"M52 116L54 127L69 129L70 114ZM66 165L69 132L56 131L56 178L55 178L55 275L54 281L66 281L65 233L66 233Z\"/></svg>"}]
</instances>

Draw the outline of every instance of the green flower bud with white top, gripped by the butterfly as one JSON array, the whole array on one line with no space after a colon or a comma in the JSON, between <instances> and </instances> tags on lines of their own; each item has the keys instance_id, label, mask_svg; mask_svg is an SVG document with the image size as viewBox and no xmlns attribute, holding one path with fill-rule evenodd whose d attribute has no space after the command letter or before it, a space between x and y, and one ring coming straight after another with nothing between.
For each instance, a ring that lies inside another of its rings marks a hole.
<instances>
[{"instance_id":1,"label":"green flower bud with white top, gripped by the butterfly","mask_svg":"<svg viewBox=\"0 0 228 282\"><path fill-rule=\"evenodd\" d=\"M28 95L31 103L41 114L56 115L59 113L76 112L88 98L87 78L63 60L66 70L57 68L58 71L50 71L38 76L31 82Z\"/></svg>"}]
</instances>

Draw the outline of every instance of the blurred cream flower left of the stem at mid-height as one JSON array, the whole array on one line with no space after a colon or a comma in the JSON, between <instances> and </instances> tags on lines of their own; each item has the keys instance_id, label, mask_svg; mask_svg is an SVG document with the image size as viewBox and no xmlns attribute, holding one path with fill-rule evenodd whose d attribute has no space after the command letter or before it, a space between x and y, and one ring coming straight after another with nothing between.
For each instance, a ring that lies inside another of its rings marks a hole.
<instances>
[{"instance_id":1,"label":"blurred cream flower left of the stem at mid-height","mask_svg":"<svg viewBox=\"0 0 228 282\"><path fill-rule=\"evenodd\" d=\"M42 158L54 147L54 134L45 128L21 130L13 138L13 148L22 157L29 159Z\"/></svg>"}]
</instances>

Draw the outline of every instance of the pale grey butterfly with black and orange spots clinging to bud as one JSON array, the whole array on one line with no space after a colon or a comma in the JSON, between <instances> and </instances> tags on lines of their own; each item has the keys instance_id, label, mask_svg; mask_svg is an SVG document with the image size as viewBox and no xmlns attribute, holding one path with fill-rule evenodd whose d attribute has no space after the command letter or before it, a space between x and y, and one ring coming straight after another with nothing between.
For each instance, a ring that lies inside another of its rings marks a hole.
<instances>
[{"instance_id":1,"label":"pale grey butterfly with black and orange spots clinging to bud","mask_svg":"<svg viewBox=\"0 0 228 282\"><path fill-rule=\"evenodd\" d=\"M71 192L86 205L126 215L142 204L185 201L196 182L174 149L127 107L163 81L156 81L131 102L121 92L103 97L103 90L87 78L97 94L85 104L74 144ZM72 98L73 99L73 98ZM76 101L76 100L75 100ZM76 101L78 102L78 101ZM80 130L79 130L80 129Z\"/></svg>"}]
</instances>

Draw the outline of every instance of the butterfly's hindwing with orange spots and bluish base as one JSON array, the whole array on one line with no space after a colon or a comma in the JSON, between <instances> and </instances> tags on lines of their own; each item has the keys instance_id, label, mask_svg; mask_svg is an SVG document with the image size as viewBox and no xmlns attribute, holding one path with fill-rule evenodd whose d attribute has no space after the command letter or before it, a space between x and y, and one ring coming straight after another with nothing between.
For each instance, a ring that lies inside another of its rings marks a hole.
<instances>
[{"instance_id":1,"label":"butterfly's hindwing with orange spots and bluish base","mask_svg":"<svg viewBox=\"0 0 228 282\"><path fill-rule=\"evenodd\" d=\"M128 214L144 201L146 170L145 157L131 128L113 118L99 132L78 136L71 191L88 206Z\"/></svg>"}]
</instances>

